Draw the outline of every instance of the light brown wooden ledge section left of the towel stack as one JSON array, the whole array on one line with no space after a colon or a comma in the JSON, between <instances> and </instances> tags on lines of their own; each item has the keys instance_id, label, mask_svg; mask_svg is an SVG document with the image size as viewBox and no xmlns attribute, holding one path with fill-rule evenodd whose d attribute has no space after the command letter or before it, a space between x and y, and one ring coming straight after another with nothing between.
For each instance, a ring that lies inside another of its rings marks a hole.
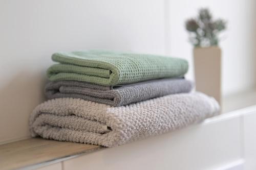
<instances>
[{"instance_id":1,"label":"light brown wooden ledge section left of the towel stack","mask_svg":"<svg viewBox=\"0 0 256 170\"><path fill-rule=\"evenodd\" d=\"M0 169L40 167L99 149L104 148L91 144L42 138L20 140L0 145Z\"/></svg>"}]
</instances>

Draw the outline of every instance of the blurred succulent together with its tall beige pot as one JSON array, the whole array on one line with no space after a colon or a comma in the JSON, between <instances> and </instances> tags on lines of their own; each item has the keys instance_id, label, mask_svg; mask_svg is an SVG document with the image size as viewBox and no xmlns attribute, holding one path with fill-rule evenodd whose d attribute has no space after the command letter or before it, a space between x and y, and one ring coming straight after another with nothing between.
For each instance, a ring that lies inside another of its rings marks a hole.
<instances>
[{"instance_id":1,"label":"blurred succulent together with its tall beige pot","mask_svg":"<svg viewBox=\"0 0 256 170\"><path fill-rule=\"evenodd\" d=\"M226 29L222 19L213 20L208 9L185 23L194 45L196 90L213 96L221 104L221 49L219 33Z\"/></svg>"}]
</instances>

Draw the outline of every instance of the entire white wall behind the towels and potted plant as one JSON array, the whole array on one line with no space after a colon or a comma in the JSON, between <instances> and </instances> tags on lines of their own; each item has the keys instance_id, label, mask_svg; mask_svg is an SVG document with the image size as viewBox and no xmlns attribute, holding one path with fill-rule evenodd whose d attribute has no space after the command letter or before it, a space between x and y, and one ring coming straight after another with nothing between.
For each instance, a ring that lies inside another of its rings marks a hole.
<instances>
[{"instance_id":1,"label":"entire white wall behind the towels and potted plant","mask_svg":"<svg viewBox=\"0 0 256 170\"><path fill-rule=\"evenodd\" d=\"M253 2L0 1L0 143L29 137L28 117L44 101L45 71L57 51L103 48L170 54L190 61L187 77L193 79L184 20L199 7L209 6L229 21L227 39L221 43L224 93L252 86Z\"/></svg>"}]
</instances>

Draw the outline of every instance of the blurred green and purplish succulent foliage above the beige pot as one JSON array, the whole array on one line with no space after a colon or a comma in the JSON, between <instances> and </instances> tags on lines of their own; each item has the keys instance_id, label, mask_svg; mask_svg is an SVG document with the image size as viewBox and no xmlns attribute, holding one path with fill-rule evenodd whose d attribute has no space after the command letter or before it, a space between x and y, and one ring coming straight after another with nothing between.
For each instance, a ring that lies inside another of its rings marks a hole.
<instances>
[{"instance_id":1,"label":"blurred green and purplish succulent foliage above the beige pot","mask_svg":"<svg viewBox=\"0 0 256 170\"><path fill-rule=\"evenodd\" d=\"M226 29L226 21L213 20L209 10L203 8L199 10L197 18L186 20L185 27L190 34L189 40L195 47L213 46L218 45L218 36Z\"/></svg>"}]
</instances>

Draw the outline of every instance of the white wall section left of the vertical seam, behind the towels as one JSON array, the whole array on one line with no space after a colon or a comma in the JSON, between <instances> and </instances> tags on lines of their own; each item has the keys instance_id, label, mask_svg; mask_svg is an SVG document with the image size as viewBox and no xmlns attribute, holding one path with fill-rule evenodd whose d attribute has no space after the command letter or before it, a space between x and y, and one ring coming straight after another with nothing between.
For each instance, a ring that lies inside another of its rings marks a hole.
<instances>
[{"instance_id":1,"label":"white wall section left of the vertical seam, behind the towels","mask_svg":"<svg viewBox=\"0 0 256 170\"><path fill-rule=\"evenodd\" d=\"M86 48L164 54L163 1L0 1L0 143L29 136L51 54Z\"/></svg>"}]
</instances>

